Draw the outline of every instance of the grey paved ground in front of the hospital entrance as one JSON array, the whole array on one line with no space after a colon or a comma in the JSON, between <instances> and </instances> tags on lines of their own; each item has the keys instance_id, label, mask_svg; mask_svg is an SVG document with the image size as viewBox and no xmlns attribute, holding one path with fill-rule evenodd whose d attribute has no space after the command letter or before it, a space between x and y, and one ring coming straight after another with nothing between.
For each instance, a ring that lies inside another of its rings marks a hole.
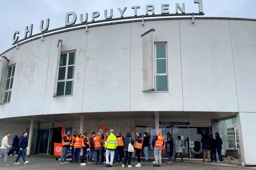
<instances>
[{"instance_id":1,"label":"grey paved ground in front of the hospital entrance","mask_svg":"<svg viewBox=\"0 0 256 170\"><path fill-rule=\"evenodd\" d=\"M60 164L59 161L55 160L55 156L41 156L41 155L32 155L30 158L26 157L26 160L29 161L28 164L20 164L16 165L15 156L8 156L8 163L11 165L10 167L3 167L3 159L0 159L0 170L122 170L128 169L128 167L122 168L122 164L113 164L113 167L105 167L104 165L94 165L94 164L87 164L86 166L81 166L80 163L71 164L65 163ZM20 157L20 163L23 163L22 158ZM185 160L184 162L172 162L172 165L167 165L167 161L162 164L161 167L155 167L154 169L157 170L242 170L243 167L227 167L227 166L219 166L218 164L201 164L200 161L191 161ZM152 170L153 164L151 162L142 162L142 167L134 167L137 162L134 162L132 159L131 165L133 167L129 168L131 170ZM227 164L226 164L227 165Z\"/></svg>"}]
</instances>

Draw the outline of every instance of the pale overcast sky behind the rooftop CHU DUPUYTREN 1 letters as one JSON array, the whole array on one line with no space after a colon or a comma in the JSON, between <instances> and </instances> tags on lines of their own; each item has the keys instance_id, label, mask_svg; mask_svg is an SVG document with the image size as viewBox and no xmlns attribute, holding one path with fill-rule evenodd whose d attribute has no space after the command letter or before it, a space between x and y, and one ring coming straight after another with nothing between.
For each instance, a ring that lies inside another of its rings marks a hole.
<instances>
[{"instance_id":1,"label":"pale overcast sky behind the rooftop CHU DUPUYTREN 1 letters","mask_svg":"<svg viewBox=\"0 0 256 170\"><path fill-rule=\"evenodd\" d=\"M124 17L134 15L131 6L140 6L138 15L145 15L145 5L155 6L155 14L161 13L161 4L169 3L169 12L175 13L175 3L185 3L186 13L198 13L194 0L1 0L0 6L0 53L12 47L12 35L20 31L19 40L24 37L25 26L33 24L33 33L39 33L41 20L50 19L49 30L65 26L65 14L74 11L79 15L88 13L91 21L93 11L99 11L104 18L104 10L113 9L113 18L120 17L117 8L127 7ZM256 19L256 0L203 0L204 17L240 17ZM255 33L256 34L256 33Z\"/></svg>"}]
</instances>

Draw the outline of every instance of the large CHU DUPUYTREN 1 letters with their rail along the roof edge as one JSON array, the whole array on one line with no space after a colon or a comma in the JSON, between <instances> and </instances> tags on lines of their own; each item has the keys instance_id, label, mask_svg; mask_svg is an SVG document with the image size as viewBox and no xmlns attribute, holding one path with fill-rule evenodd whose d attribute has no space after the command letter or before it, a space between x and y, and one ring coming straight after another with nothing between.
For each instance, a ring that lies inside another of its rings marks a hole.
<instances>
[{"instance_id":1,"label":"large CHU DUPUYTREN 1 letters with their rail along the roof edge","mask_svg":"<svg viewBox=\"0 0 256 170\"><path fill-rule=\"evenodd\" d=\"M67 12L66 16L65 16L65 26L61 27L61 28L56 28L56 29L52 29L48 31L49 28L49 22L50 19L47 18L45 26L44 26L44 20L40 21L40 31L41 33L32 35L32 31L33 31L33 24L30 24L30 26L26 26L25 27L25 32L24 32L24 38L22 40L19 40L19 31L15 31L14 34L12 35L12 41L14 43L12 43L12 45L21 42L23 40L26 40L28 38L31 37L35 37L38 35L45 33L49 33L52 31L57 31L60 29L65 29L65 28L70 28L73 26L81 26L81 25L86 25L87 24L91 24L91 23L99 23L99 22L107 22L107 21L113 21L113 20L123 20L123 19L134 19L134 18L144 18L144 17L165 17L165 16L183 16L183 15L204 15L203 13L203 0L194 0L194 3L198 4L198 11L199 13L185 13L185 3L182 4L182 7L180 6L180 4L176 3L175 4L175 9L176 9L176 13L175 14L170 14L169 12L169 3L166 4L161 4L161 14L155 14L155 6L154 5L146 5L146 10L145 10L145 16L141 15L141 16L137 16L137 11L140 9L140 6L131 6L130 10L134 10L134 16L131 17L124 17L124 13L127 10L127 7L124 8L117 8L119 13L120 13L120 18L112 18L113 17L113 9L105 9L104 11L104 17L105 20L98 20L96 21L95 19L98 18L100 15L99 11L93 11L91 14L91 22L87 22L88 21L88 13L84 13L79 15L79 24L76 24L76 20L77 20L77 15L75 12L71 11L71 12ZM181 13L179 13L179 11ZM149 15L150 14L150 15ZM19 40L19 41L18 41Z\"/></svg>"}]
</instances>

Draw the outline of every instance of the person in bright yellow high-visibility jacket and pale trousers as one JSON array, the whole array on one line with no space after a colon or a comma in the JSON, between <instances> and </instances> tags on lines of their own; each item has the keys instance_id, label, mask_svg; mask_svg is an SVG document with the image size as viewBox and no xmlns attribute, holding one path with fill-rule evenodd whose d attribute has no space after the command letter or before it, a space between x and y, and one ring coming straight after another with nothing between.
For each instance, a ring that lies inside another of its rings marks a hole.
<instances>
[{"instance_id":1,"label":"person in bright yellow high-visibility jacket and pale trousers","mask_svg":"<svg viewBox=\"0 0 256 170\"><path fill-rule=\"evenodd\" d=\"M106 167L112 167L113 166L113 159L114 159L114 153L115 149L117 147L117 140L116 136L114 135L114 130L110 130L110 135L108 136L108 139L105 142L105 148L106 148ZM111 155L110 161L109 161L109 154Z\"/></svg>"}]
</instances>

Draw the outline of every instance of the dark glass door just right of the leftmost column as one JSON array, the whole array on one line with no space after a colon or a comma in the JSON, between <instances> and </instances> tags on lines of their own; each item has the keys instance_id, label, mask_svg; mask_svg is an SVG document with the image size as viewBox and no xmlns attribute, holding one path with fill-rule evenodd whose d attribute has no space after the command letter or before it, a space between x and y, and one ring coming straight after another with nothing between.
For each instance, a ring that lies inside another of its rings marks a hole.
<instances>
[{"instance_id":1,"label":"dark glass door just right of the leftmost column","mask_svg":"<svg viewBox=\"0 0 256 170\"><path fill-rule=\"evenodd\" d=\"M50 154L50 129L41 129L39 154Z\"/></svg>"}]
</instances>

